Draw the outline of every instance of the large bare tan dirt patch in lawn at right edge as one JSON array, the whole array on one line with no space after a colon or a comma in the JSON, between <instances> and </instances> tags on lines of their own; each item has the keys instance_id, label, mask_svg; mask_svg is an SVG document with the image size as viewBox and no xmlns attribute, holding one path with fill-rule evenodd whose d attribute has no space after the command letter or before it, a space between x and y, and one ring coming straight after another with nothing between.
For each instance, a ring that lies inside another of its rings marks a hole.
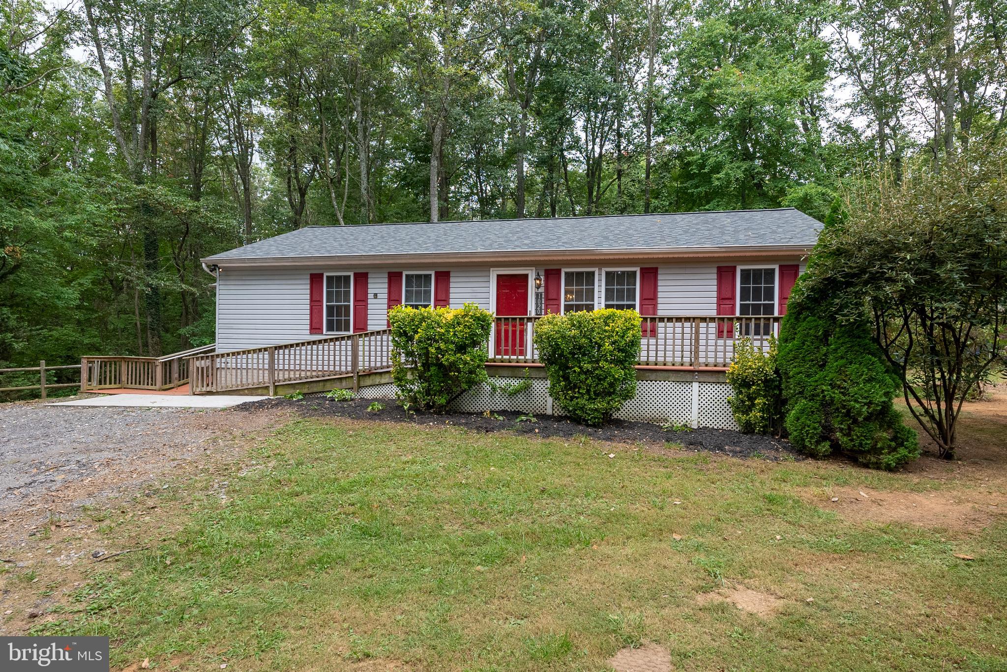
<instances>
[{"instance_id":1,"label":"large bare tan dirt patch in lawn at right edge","mask_svg":"<svg viewBox=\"0 0 1007 672\"><path fill-rule=\"evenodd\" d=\"M980 531L1007 512L1003 496L961 490L917 493L832 488L824 495L819 493L815 500L817 505L848 520L965 532Z\"/></svg>"}]
</instances>

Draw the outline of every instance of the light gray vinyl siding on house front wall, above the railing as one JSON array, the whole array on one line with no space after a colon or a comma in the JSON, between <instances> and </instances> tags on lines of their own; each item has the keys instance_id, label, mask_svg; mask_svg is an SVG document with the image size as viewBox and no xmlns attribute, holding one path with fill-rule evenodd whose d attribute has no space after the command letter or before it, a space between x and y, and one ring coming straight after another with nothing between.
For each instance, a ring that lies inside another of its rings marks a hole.
<instances>
[{"instance_id":1,"label":"light gray vinyl siding on house front wall, above the railing","mask_svg":"<svg viewBox=\"0 0 1007 672\"><path fill-rule=\"evenodd\" d=\"M764 264L793 264L794 261L772 260ZM761 263L753 266L758 264ZM629 264L620 268L632 266ZM658 314L715 315L717 266L715 263L659 266ZM562 268L562 265L542 265L537 271L544 274L547 268ZM490 308L489 267L465 267L450 271L452 308L460 308L465 303ZM804 264L801 264L801 271L805 271ZM322 335L308 333L308 278L312 273L325 272L367 272L368 329L384 329L387 326L388 269L223 269L217 289L218 350L227 352L322 338ZM600 278L599 274L599 283Z\"/></svg>"}]
</instances>

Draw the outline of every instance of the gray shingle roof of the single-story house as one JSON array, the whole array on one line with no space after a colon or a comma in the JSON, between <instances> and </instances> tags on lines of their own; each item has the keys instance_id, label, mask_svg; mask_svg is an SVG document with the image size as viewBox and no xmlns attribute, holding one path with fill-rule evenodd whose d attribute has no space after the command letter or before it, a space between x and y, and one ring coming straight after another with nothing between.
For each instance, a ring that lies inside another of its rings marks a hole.
<instances>
[{"instance_id":1,"label":"gray shingle roof of the single-story house","mask_svg":"<svg viewBox=\"0 0 1007 672\"><path fill-rule=\"evenodd\" d=\"M822 224L794 208L308 226L204 261L499 251L812 246Z\"/></svg>"}]
</instances>

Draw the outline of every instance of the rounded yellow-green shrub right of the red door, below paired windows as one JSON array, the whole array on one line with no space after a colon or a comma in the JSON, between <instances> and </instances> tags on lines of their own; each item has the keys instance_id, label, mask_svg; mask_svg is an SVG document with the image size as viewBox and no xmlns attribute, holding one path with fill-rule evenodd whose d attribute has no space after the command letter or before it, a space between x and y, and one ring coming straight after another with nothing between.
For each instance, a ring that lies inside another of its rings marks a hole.
<instances>
[{"instance_id":1,"label":"rounded yellow-green shrub right of the red door, below paired windows","mask_svg":"<svg viewBox=\"0 0 1007 672\"><path fill-rule=\"evenodd\" d=\"M601 425L636 393L640 318L636 311L547 315L535 345L549 374L549 393L574 419Z\"/></svg>"}]
</instances>

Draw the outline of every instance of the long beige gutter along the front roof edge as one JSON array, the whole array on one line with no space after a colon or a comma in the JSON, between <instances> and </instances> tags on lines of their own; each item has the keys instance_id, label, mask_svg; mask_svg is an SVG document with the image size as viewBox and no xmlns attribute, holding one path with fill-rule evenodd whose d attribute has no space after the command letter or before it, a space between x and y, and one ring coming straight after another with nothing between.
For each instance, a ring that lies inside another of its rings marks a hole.
<instances>
[{"instance_id":1,"label":"long beige gutter along the front roof edge","mask_svg":"<svg viewBox=\"0 0 1007 672\"><path fill-rule=\"evenodd\" d=\"M606 260L744 259L784 255L808 255L812 244L795 245L711 245L703 247L629 247L621 249L541 249L508 251L398 253L383 255L310 255L300 257L207 258L221 268L249 267L361 267L407 264L484 264Z\"/></svg>"}]
</instances>

